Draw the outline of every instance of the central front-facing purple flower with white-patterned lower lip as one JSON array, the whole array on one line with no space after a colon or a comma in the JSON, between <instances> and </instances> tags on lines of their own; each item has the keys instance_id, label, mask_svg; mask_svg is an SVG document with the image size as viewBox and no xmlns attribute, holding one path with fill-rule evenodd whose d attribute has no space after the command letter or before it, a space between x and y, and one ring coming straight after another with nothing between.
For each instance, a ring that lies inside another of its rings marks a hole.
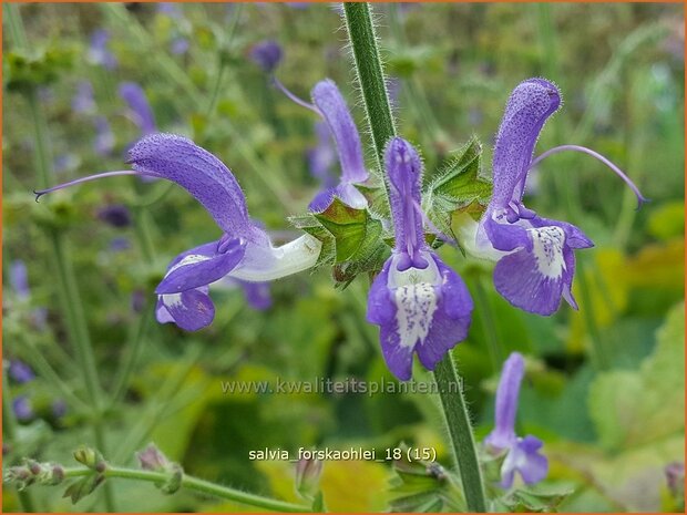
<instances>
[{"instance_id":1,"label":"central front-facing purple flower with white-patterned lower lip","mask_svg":"<svg viewBox=\"0 0 687 515\"><path fill-rule=\"evenodd\" d=\"M433 370L465 339L472 299L462 279L427 245L420 208L422 163L416 150L394 137L384 153L396 233L391 257L375 279L367 319L380 327L389 370L407 381L413 352Z\"/></svg>"}]
</instances>

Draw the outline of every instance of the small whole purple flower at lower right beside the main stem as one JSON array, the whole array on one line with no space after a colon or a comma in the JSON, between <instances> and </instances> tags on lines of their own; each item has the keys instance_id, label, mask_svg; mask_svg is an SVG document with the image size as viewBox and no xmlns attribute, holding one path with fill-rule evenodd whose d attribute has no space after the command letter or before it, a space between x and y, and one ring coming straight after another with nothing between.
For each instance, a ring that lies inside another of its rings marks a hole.
<instances>
[{"instance_id":1,"label":"small whole purple flower at lower right beside the main stem","mask_svg":"<svg viewBox=\"0 0 687 515\"><path fill-rule=\"evenodd\" d=\"M540 454L541 440L527 435L524 439L515 434L515 415L520 385L525 373L522 356L513 352L503 363L501 380L496 390L495 428L484 439L486 449L496 455L505 455L501 465L501 486L513 485L515 472L531 485L542 481L548 473L548 460Z\"/></svg>"}]
</instances>

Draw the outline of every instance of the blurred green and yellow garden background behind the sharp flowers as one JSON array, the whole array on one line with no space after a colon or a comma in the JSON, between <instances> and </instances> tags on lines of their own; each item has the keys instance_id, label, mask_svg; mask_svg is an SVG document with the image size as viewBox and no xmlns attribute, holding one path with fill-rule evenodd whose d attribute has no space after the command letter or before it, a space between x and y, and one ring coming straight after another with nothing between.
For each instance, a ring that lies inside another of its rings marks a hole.
<instances>
[{"instance_id":1,"label":"blurred green and yellow garden background behind the sharp flowers","mask_svg":"<svg viewBox=\"0 0 687 515\"><path fill-rule=\"evenodd\" d=\"M37 377L6 378L7 413L12 416L8 402L18 398L31 408L27 413L25 404L24 411L14 405L20 420L11 437L4 434L6 465L25 455L71 464L76 445L93 444L88 413L65 401L44 372L53 370L63 387L85 398L58 297L50 246L57 234L73 262L105 391L117 384L131 342L143 334L133 380L106 415L113 463L135 465L134 451L154 441L191 474L287 499L296 499L293 466L252 462L248 451L406 442L435 447L449 466L431 395L222 392L222 381L238 379L393 381L377 328L365 321L366 277L345 290L332 288L327 270L277 281L265 311L250 309L240 289L217 291L213 326L184 333L152 320L150 301L174 256L219 236L186 192L121 177L40 204L31 193L39 185L35 120L47 127L51 184L124 169L125 150L141 133L117 87L132 81L145 91L157 130L187 135L215 153L242 184L254 218L297 234L287 217L305 213L318 189L306 158L317 120L270 85L252 50L278 42L284 54L275 73L301 97L319 80L335 80L371 157L339 10L42 3L19 11L25 42L17 40L21 31L8 24L7 13L2 42L3 358L28 363ZM551 318L522 312L494 291L489 267L449 247L441 256L478 301L470 336L453 352L478 439L493 424L501 363L519 350L527 358L521 433L545 442L547 481L573 491L560 511L680 508L665 467L684 461L683 6L386 3L375 13L399 132L422 150L428 177L473 134L484 143L489 173L510 91L541 75L556 82L564 106L536 153L589 146L652 199L635 210L622 182L584 155L546 159L531 178L527 205L574 223L596 244L577 254L578 312L567 306ZM112 69L90 49L101 29L110 35ZM94 104L78 112L81 81L92 84ZM98 117L110 125L109 136L98 130ZM105 152L96 148L102 137ZM105 207L123 212L124 220L113 225ZM18 260L28 270L28 293L12 286ZM416 378L431 380L420 368ZM62 410L55 401L65 401ZM339 512L383 511L398 495L389 488L392 475L391 464L327 462L326 503ZM113 485L121 511L246 509L186 492L165 496L150 484ZM31 493L42 511L103 509L100 494L72 507L59 487ZM11 490L3 509L18 509Z\"/></svg>"}]
</instances>

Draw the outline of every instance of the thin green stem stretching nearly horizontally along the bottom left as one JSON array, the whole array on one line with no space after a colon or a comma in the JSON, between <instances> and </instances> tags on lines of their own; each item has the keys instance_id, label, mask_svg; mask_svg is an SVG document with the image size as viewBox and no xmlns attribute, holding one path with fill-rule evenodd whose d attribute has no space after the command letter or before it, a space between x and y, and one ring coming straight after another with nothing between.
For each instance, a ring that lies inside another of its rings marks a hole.
<instances>
[{"instance_id":1,"label":"thin green stem stretching nearly horizontally along the bottom left","mask_svg":"<svg viewBox=\"0 0 687 515\"><path fill-rule=\"evenodd\" d=\"M91 468L79 467L79 468L65 468L64 477L73 478L73 477L83 477L93 474ZM124 468L116 466L107 466L105 471L102 473L105 477L120 477L123 480L133 480L133 481L143 481L155 484L164 484L170 480L170 475L164 472L154 472L154 471L142 471L137 468ZM105 484L107 484L105 482ZM194 492L198 492L202 494L212 495L215 497L219 497L227 501L233 501L236 503L245 504L247 506L255 506L264 509L271 509L274 512L286 512L286 513L304 513L310 512L309 506L287 503L285 501L273 499L268 497L263 497L255 494L249 494L247 492L242 492L239 490L229 488L228 486L217 485L215 483L211 483L208 481L198 480L197 477L193 477L189 475L185 475L182 478L182 487L187 488Z\"/></svg>"}]
</instances>

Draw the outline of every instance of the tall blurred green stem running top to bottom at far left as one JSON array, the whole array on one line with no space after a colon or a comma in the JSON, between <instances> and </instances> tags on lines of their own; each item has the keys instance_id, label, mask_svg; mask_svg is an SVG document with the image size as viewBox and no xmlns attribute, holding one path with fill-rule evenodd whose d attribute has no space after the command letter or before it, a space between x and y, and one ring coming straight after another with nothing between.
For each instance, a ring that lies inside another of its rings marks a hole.
<instances>
[{"instance_id":1,"label":"tall blurred green stem running top to bottom at far left","mask_svg":"<svg viewBox=\"0 0 687 515\"><path fill-rule=\"evenodd\" d=\"M19 12L19 6L8 4L8 14L11 18L11 25L14 27L12 35L18 35L13 41L16 48L25 49L28 40L24 34L23 21ZM35 164L38 171L38 185L45 188L50 183L50 145L48 130L43 112L41 111L38 92L35 89L27 91L27 101L31 111L33 122L33 136L35 140ZM89 393L90 408L93 416L93 432L95 444L99 449L106 452L104 421L102 418L103 394L95 367L95 358L91 346L91 338L83 313L81 296L76 287L74 269L66 255L66 246L62 234L58 230L47 231L51 245L52 259L54 261L58 295L60 303L64 309L70 340L74 346L85 388ZM114 497L110 487L105 488L105 506L109 512L114 512Z\"/></svg>"}]
</instances>

